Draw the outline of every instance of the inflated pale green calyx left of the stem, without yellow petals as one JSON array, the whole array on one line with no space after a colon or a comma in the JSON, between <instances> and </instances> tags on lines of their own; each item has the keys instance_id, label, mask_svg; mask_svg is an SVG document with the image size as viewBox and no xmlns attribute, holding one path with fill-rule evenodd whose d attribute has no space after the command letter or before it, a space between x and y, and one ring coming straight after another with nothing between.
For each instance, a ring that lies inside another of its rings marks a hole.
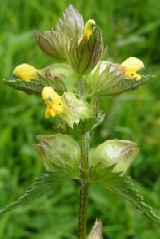
<instances>
[{"instance_id":1,"label":"inflated pale green calyx left of the stem, without yellow petals","mask_svg":"<svg viewBox=\"0 0 160 239\"><path fill-rule=\"evenodd\" d=\"M40 155L47 170L54 170L56 165L68 164L77 167L80 162L80 148L68 135L38 135L39 144L33 145Z\"/></svg>"}]
</instances>

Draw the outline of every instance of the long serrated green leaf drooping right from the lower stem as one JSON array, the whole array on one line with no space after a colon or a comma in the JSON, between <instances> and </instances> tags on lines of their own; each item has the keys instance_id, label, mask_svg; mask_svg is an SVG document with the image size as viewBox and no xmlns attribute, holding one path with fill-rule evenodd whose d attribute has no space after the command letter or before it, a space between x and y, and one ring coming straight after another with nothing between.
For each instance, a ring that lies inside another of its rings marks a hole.
<instances>
[{"instance_id":1,"label":"long serrated green leaf drooping right from the lower stem","mask_svg":"<svg viewBox=\"0 0 160 239\"><path fill-rule=\"evenodd\" d=\"M107 190L130 201L142 211L146 217L160 226L160 217L152 211L149 205L145 204L143 197L139 195L128 177L121 176L120 173L112 172L114 167L115 165L105 168L100 163L96 167L90 169L86 178L88 177L88 181L99 183Z\"/></svg>"}]
</instances>

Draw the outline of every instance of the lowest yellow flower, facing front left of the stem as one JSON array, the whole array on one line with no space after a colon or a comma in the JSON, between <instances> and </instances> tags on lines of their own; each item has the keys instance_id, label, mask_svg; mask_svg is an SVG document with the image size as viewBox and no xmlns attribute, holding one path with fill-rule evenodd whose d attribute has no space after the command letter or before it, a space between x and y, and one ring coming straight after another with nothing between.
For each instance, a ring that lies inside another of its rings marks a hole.
<instances>
[{"instance_id":1,"label":"lowest yellow flower, facing front left of the stem","mask_svg":"<svg viewBox=\"0 0 160 239\"><path fill-rule=\"evenodd\" d=\"M55 117L57 114L61 114L65 110L65 106L62 97L59 96L52 87L44 87L42 90L42 99L47 105L45 112L45 118L50 116Z\"/></svg>"}]
</instances>

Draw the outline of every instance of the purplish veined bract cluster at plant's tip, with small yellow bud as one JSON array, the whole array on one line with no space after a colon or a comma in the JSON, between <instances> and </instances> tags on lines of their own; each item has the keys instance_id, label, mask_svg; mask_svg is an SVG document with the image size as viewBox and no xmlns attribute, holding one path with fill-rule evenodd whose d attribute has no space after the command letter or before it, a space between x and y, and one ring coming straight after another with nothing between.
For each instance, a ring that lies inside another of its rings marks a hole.
<instances>
[{"instance_id":1,"label":"purplish veined bract cluster at plant's tip, with small yellow bud","mask_svg":"<svg viewBox=\"0 0 160 239\"><path fill-rule=\"evenodd\" d=\"M47 56L56 62L68 62L79 74L91 71L107 50L95 21L90 19L84 26L82 16L72 5L56 30L45 31L43 35L36 32L36 40Z\"/></svg>"}]
</instances>

